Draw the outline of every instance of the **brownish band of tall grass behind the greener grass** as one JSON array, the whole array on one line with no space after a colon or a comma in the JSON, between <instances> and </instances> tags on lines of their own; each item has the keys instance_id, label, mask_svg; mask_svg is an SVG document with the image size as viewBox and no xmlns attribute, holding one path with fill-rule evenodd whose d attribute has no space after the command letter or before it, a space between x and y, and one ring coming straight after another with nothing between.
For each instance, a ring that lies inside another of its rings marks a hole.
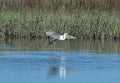
<instances>
[{"instance_id":1,"label":"brownish band of tall grass behind the greener grass","mask_svg":"<svg viewBox=\"0 0 120 83\"><path fill-rule=\"evenodd\" d=\"M80 12L81 10L120 10L120 0L0 0L0 9L9 10L58 10Z\"/></svg>"}]
</instances>

